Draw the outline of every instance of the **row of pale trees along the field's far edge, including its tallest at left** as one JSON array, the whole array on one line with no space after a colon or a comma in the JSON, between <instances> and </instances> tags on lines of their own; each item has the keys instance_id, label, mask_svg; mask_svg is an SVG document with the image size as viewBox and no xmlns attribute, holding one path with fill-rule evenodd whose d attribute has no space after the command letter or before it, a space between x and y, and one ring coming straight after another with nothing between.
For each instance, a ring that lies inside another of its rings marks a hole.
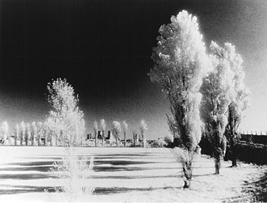
<instances>
[{"instance_id":1,"label":"row of pale trees along the field's far edge, including its tallest at left","mask_svg":"<svg viewBox=\"0 0 267 203\"><path fill-rule=\"evenodd\" d=\"M74 95L74 88L67 83L66 79L56 79L48 83L47 90L49 92L48 101L53 108L45 122L33 122L32 124L24 123L17 124L15 127L15 145L17 145L17 139L20 140L20 145L28 145L31 141L31 145L36 145L35 140L38 140L40 145L40 139L44 138L44 145L50 140L50 143L54 142L54 145L58 145L58 142L67 146L83 145L85 121L83 120L83 112L78 107L78 95ZM8 138L8 122L1 124L3 132L3 145L6 145ZM102 131L102 147L104 147L104 132L106 130L105 120L100 120L100 129ZM118 146L118 138L123 131L124 134L124 147L126 146L126 134L128 130L127 122L122 121L122 127L120 122L114 121L112 123L113 137L115 138L116 145ZM140 133L143 140L143 146L145 143L145 131L147 130L147 124L145 120L140 122ZM94 122L95 131L95 146L97 146L97 133L98 124ZM133 131L136 134L136 131Z\"/></svg>"}]
</instances>

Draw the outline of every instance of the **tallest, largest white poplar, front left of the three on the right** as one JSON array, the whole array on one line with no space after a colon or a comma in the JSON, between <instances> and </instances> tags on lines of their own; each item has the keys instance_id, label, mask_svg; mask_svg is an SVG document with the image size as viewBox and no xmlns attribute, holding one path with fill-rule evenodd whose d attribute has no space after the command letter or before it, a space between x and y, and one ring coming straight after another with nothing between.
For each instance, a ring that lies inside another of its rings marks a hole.
<instances>
[{"instance_id":1,"label":"tallest, largest white poplar, front left of the three on the right","mask_svg":"<svg viewBox=\"0 0 267 203\"><path fill-rule=\"evenodd\" d=\"M168 124L173 136L179 138L181 146L177 160L181 161L184 176L184 188L188 188L192 178L193 154L201 138L201 120L199 92L202 78L211 69L197 17L186 10L177 17L170 18L171 23L159 29L158 46L153 49L154 69L149 76L153 83L161 87L170 101L173 119Z\"/></svg>"}]
</instances>

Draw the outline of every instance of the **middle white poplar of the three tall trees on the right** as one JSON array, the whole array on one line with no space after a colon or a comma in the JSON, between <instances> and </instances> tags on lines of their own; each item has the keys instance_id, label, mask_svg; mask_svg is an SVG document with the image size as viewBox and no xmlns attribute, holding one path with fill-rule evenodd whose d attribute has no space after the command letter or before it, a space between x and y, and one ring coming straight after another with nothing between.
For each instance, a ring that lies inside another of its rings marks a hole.
<instances>
[{"instance_id":1,"label":"middle white poplar of the three tall trees on the right","mask_svg":"<svg viewBox=\"0 0 267 203\"><path fill-rule=\"evenodd\" d=\"M220 159L223 156L222 141L227 124L228 106L234 97L234 72L229 44L225 48L211 42L211 61L215 68L203 79L201 92L201 117L204 130L213 147L216 174L220 173Z\"/></svg>"}]
</instances>

